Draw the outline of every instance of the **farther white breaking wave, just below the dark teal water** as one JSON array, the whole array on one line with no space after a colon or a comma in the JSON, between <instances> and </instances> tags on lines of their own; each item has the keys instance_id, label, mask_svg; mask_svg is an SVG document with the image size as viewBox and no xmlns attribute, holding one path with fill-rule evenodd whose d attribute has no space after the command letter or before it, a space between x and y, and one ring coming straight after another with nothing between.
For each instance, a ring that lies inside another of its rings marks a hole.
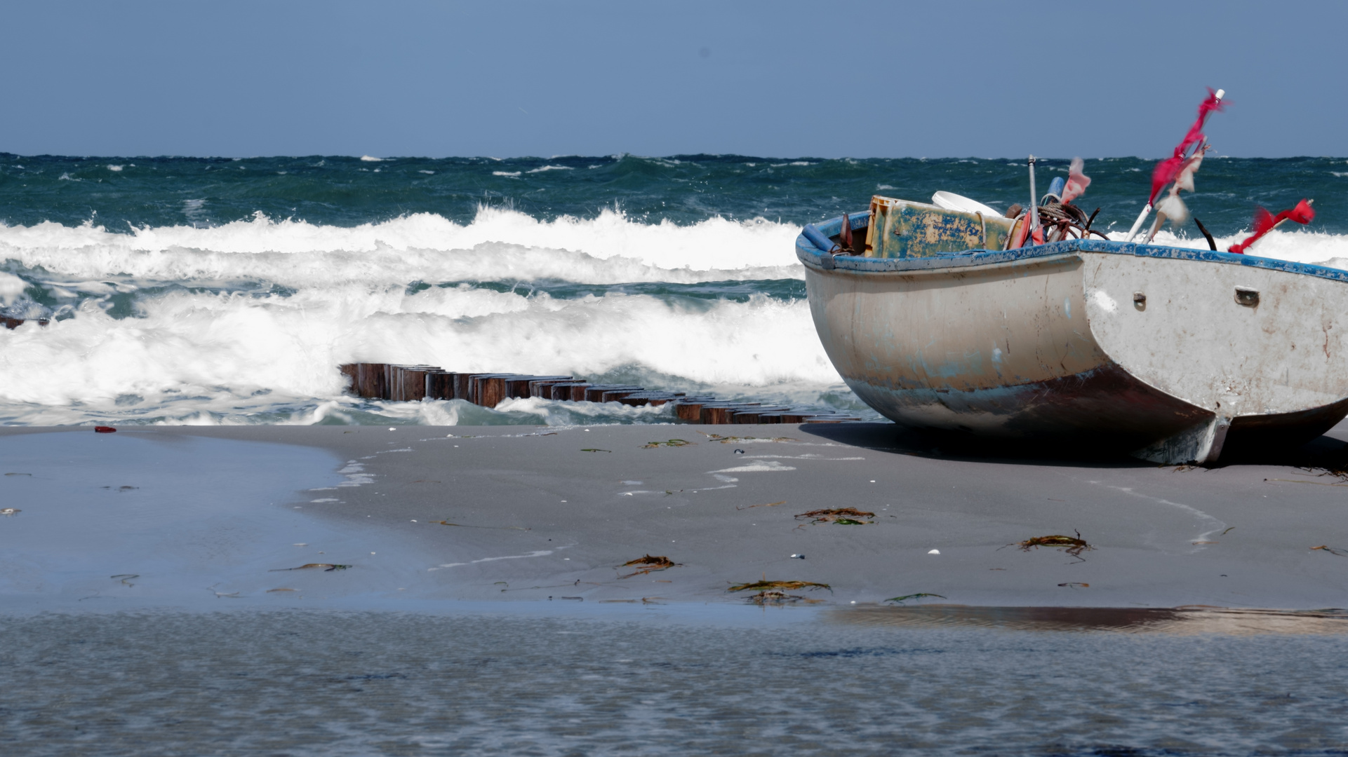
<instances>
[{"instance_id":1,"label":"farther white breaking wave, just below the dark teal water","mask_svg":"<svg viewBox=\"0 0 1348 757\"><path fill-rule=\"evenodd\" d=\"M313 260L307 265L301 261L287 265L276 257L278 253L321 253L334 260L365 255L375 267L395 264L399 269L427 265L434 269L437 257L454 257L454 253L481 256L480 269L493 265L518 269L519 261L508 256L522 251L542 251L543 256L534 256L538 261L547 255L555 255L558 261L581 260L577 256L584 255L590 260L612 259L619 267L636 263L662 271L783 269L798 265L793 251L798 233L799 228L791 224L762 218L709 218L681 226L669 221L642 224L615 210L604 210L588 220L562 217L539 221L515 210L481 207L466 225L418 213L352 228L271 220L257 213L248 221L210 228L156 226L132 233L115 233L93 224L0 225L0 260L42 265L70 276L132 273L152 279L271 277L271 269L317 268ZM236 259L229 260L231 256ZM408 257L411 265L399 265L396 259L400 256ZM253 265L257 269L248 272ZM315 271L314 275L329 280L322 272ZM801 275L795 273L797 277ZM433 276L427 272L403 280ZM754 277L776 276L755 273ZM613 279L603 276L603 280Z\"/></svg>"}]
</instances>

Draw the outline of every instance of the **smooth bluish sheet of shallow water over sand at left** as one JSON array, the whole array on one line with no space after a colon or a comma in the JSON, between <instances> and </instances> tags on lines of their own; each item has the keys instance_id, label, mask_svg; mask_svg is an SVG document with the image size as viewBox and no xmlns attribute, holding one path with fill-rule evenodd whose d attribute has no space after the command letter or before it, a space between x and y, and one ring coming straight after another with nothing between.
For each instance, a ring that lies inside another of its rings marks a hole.
<instances>
[{"instance_id":1,"label":"smooth bluish sheet of shallow water over sand at left","mask_svg":"<svg viewBox=\"0 0 1348 757\"><path fill-rule=\"evenodd\" d=\"M314 447L80 431L0 438L0 508L18 511L0 517L0 612L376 602L431 562L321 517L368 477ZM286 570L309 563L357 568Z\"/></svg>"}]
</instances>

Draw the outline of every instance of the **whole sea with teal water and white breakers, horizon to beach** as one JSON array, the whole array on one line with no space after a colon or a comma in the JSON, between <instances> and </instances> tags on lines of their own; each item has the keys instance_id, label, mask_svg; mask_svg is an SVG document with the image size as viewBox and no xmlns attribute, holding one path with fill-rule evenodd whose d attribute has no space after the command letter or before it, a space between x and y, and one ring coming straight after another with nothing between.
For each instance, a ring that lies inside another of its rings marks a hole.
<instances>
[{"instance_id":1,"label":"whole sea with teal water and white breakers, horizon to beach","mask_svg":"<svg viewBox=\"0 0 1348 757\"><path fill-rule=\"evenodd\" d=\"M1068 159L1041 159L1041 191ZM1122 237L1154 162L1086 160ZM874 194L1029 202L1024 159L0 154L0 424L667 423L667 409L352 397L337 366L573 374L878 418L814 334L794 238ZM1348 267L1348 160L1209 158L1223 249ZM1206 246L1197 228L1163 244ZM39 319L49 321L38 325Z\"/></svg>"}]
</instances>

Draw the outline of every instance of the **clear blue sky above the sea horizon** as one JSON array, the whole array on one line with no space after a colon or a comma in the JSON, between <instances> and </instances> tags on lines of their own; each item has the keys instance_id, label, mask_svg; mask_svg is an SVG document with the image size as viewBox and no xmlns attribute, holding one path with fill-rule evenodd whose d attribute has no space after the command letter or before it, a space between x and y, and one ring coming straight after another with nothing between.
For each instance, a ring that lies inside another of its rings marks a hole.
<instances>
[{"instance_id":1,"label":"clear blue sky above the sea horizon","mask_svg":"<svg viewBox=\"0 0 1348 757\"><path fill-rule=\"evenodd\" d=\"M1282 12L1279 8L1294 8ZM20 155L1348 155L1348 4L5 3Z\"/></svg>"}]
</instances>

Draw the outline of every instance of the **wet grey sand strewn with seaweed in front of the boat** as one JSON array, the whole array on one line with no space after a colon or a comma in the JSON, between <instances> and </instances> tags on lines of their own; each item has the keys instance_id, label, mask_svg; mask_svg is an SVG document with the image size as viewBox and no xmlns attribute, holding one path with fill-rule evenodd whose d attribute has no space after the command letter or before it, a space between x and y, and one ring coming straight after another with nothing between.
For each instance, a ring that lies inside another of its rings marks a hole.
<instances>
[{"instance_id":1,"label":"wet grey sand strewn with seaweed in front of the boat","mask_svg":"<svg viewBox=\"0 0 1348 757\"><path fill-rule=\"evenodd\" d=\"M0 442L49 432L5 428ZM205 436L329 453L329 470L297 470L295 486L307 489L294 501L264 504L328 531L306 539L303 525L290 524L267 537L272 552L232 563L233 583L220 590L237 586L239 598L733 603L740 594L731 585L767 578L826 583L832 591L790 594L834 606L911 594L937 597L910 605L1348 606L1348 485L1293 465L1333 458L1344 426L1282 463L1212 470L960 457L860 423L125 427L117 435L163 449ZM210 454L204 470L228 466L218 450ZM825 508L872 512L864 520L874 523L798 517ZM1015 546L1077 531L1093 547L1080 558ZM638 575L621 567L644 555L678 564ZM352 567L262 570L314 562Z\"/></svg>"}]
</instances>

